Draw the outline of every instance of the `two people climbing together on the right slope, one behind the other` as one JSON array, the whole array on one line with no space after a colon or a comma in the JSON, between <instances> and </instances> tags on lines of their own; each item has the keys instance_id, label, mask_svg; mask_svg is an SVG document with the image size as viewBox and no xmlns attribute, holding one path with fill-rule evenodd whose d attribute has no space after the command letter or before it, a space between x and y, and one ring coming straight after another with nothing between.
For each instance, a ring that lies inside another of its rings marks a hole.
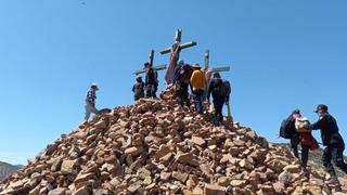
<instances>
[{"instance_id":1,"label":"two people climbing together on the right slope, one behind the other","mask_svg":"<svg viewBox=\"0 0 347 195\"><path fill-rule=\"evenodd\" d=\"M347 173L347 164L344 161L344 140L338 132L336 119L329 113L326 105L318 105L314 113L317 113L319 119L317 122L310 123L307 118L301 116L299 109L295 109L282 122L280 136L291 140L291 150L293 155L298 159L298 144L301 145L301 172L306 173L309 150L319 148L318 142L311 134L311 130L320 130L322 144L325 146L322 162L325 170L331 174L329 183L338 183L332 160L336 167Z\"/></svg>"}]
</instances>

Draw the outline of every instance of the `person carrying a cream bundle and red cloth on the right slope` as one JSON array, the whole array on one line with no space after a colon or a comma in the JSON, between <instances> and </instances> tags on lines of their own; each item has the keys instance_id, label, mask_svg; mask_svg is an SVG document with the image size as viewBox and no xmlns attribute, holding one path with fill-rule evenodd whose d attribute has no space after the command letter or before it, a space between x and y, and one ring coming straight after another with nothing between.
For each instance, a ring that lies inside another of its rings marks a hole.
<instances>
[{"instance_id":1,"label":"person carrying a cream bundle and red cloth on the right slope","mask_svg":"<svg viewBox=\"0 0 347 195\"><path fill-rule=\"evenodd\" d=\"M310 125L309 120L301 116L300 110L293 112L293 118L295 120L295 130L298 132L298 140L295 142L295 150L297 154L297 146L301 145L301 158L300 167L301 173L308 173L307 162L309 158L309 150L314 151L319 148L317 140L313 138L311 130L306 127Z\"/></svg>"}]
</instances>

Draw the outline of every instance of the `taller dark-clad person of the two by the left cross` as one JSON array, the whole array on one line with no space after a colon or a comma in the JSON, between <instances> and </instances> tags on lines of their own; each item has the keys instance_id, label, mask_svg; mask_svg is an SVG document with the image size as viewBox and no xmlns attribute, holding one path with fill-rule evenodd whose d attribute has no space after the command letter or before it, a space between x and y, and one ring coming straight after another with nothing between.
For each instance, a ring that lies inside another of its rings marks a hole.
<instances>
[{"instance_id":1,"label":"taller dark-clad person of the two by the left cross","mask_svg":"<svg viewBox=\"0 0 347 195\"><path fill-rule=\"evenodd\" d=\"M156 98L156 91L158 88L158 74L155 69L152 68L150 63L144 63L144 69L145 69L145 81L144 81L144 89L145 89L145 98L150 99Z\"/></svg>"}]
</instances>

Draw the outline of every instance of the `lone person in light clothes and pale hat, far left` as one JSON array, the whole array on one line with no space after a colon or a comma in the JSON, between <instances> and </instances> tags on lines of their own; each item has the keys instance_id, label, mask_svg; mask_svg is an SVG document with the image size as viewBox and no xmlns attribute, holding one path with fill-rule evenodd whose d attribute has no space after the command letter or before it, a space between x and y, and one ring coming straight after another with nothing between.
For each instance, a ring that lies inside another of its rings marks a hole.
<instances>
[{"instance_id":1,"label":"lone person in light clothes and pale hat, far left","mask_svg":"<svg viewBox=\"0 0 347 195\"><path fill-rule=\"evenodd\" d=\"M87 92L86 96L86 113L85 113L85 122L88 122L90 115L98 114L99 110L95 108L95 101L97 101L97 91L99 90L99 86L97 83L92 83L90 86L89 91Z\"/></svg>"}]
</instances>

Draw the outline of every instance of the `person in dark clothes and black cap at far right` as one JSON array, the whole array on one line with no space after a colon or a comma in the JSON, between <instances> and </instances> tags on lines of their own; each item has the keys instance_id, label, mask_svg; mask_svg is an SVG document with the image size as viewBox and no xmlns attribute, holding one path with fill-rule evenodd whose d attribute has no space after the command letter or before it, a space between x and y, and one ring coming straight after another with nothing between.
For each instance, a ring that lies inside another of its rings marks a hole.
<instances>
[{"instance_id":1,"label":"person in dark clothes and black cap at far right","mask_svg":"<svg viewBox=\"0 0 347 195\"><path fill-rule=\"evenodd\" d=\"M322 161L325 170L331 174L330 182L338 182L332 160L347 173L347 164L344 161L345 142L338 132L336 119L327 112L327 106L320 104L314 113L318 114L319 120L310 126L312 130L321 130L321 139L325 146Z\"/></svg>"}]
</instances>

